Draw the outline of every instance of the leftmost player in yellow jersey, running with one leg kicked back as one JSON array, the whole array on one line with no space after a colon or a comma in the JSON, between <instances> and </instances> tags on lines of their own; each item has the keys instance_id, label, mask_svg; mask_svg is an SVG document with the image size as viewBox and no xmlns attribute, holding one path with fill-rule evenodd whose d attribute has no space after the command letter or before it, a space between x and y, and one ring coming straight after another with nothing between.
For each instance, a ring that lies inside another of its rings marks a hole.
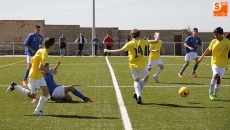
<instances>
[{"instance_id":1,"label":"leftmost player in yellow jersey, running with one leg kicked back","mask_svg":"<svg viewBox=\"0 0 230 130\"><path fill-rule=\"evenodd\" d=\"M35 99L40 88L43 93L39 98L37 107L35 108L33 114L36 116L47 115L41 109L46 101L46 98L49 94L49 89L46 85L46 81L42 75L42 71L45 73L56 74L56 70L50 70L45 67L47 62L48 52L53 50L53 45L55 43L54 38L46 38L44 41L45 48L39 49L36 54L31 59L31 69L29 73L29 83L28 87L30 90L25 89L16 83L12 82L11 85L7 88L6 93L12 92L14 89L19 91L25 96L28 96L31 99Z\"/></svg>"}]
</instances>

